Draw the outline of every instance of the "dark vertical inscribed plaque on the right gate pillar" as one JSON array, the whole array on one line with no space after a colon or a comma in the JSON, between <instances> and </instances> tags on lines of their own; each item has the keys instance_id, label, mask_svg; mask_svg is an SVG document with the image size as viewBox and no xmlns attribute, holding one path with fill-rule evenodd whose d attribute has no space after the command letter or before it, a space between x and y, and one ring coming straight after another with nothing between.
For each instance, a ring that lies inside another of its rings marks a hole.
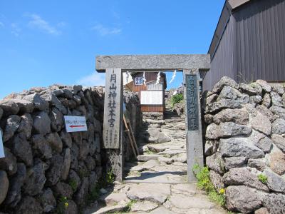
<instances>
[{"instance_id":1,"label":"dark vertical inscribed plaque on the right gate pillar","mask_svg":"<svg viewBox=\"0 0 285 214\"><path fill-rule=\"evenodd\" d=\"M186 75L186 90L188 131L199 131L199 101L196 74Z\"/></svg>"}]
</instances>

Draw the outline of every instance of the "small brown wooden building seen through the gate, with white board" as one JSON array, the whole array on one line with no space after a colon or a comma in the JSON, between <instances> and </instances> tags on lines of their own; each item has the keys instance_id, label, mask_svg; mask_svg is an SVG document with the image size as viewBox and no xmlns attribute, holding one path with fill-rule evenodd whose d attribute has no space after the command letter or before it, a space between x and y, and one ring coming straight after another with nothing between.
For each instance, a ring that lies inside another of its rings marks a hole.
<instances>
[{"instance_id":1,"label":"small brown wooden building seen through the gate, with white board","mask_svg":"<svg viewBox=\"0 0 285 214\"><path fill-rule=\"evenodd\" d=\"M133 86L140 98L142 112L160 113L165 111L165 89L167 87L165 73L160 73L160 81L156 84L158 72L145 72L146 84L143 83L143 73L133 73Z\"/></svg>"}]
</instances>

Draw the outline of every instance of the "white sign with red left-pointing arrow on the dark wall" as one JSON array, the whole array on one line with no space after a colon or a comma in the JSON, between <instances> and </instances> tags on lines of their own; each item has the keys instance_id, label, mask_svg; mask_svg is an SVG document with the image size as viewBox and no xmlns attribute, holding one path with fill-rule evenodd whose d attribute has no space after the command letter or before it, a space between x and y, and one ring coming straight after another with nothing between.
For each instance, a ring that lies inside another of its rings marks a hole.
<instances>
[{"instance_id":1,"label":"white sign with red left-pointing arrow on the dark wall","mask_svg":"<svg viewBox=\"0 0 285 214\"><path fill-rule=\"evenodd\" d=\"M64 121L66 122L67 132L87 131L85 117L64 116Z\"/></svg>"}]
</instances>

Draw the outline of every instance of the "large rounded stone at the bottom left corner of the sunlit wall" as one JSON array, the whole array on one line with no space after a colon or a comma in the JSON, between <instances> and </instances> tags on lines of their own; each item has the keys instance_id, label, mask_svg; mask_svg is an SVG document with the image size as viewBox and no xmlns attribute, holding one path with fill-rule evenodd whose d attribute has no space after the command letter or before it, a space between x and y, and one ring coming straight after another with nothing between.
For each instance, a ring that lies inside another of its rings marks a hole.
<instances>
[{"instance_id":1,"label":"large rounded stone at the bottom left corner of the sunlit wall","mask_svg":"<svg viewBox=\"0 0 285 214\"><path fill-rule=\"evenodd\" d=\"M226 189L227 208L232 212L252 213L261 207L262 201L256 190L244 185Z\"/></svg>"}]
</instances>

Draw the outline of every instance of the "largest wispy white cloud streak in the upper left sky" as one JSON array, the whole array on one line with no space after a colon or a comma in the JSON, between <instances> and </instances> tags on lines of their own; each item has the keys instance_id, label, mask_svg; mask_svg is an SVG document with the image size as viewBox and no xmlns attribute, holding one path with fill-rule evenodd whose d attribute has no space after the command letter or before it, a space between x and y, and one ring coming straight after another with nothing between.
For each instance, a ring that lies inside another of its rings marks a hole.
<instances>
[{"instance_id":1,"label":"largest wispy white cloud streak in the upper left sky","mask_svg":"<svg viewBox=\"0 0 285 214\"><path fill-rule=\"evenodd\" d=\"M28 21L28 26L40 29L41 31L52 35L61 34L61 31L58 31L56 27L51 26L51 24L49 24L48 21L42 19L41 16L38 16L37 14L30 14L28 17L31 18L31 21Z\"/></svg>"}]
</instances>

